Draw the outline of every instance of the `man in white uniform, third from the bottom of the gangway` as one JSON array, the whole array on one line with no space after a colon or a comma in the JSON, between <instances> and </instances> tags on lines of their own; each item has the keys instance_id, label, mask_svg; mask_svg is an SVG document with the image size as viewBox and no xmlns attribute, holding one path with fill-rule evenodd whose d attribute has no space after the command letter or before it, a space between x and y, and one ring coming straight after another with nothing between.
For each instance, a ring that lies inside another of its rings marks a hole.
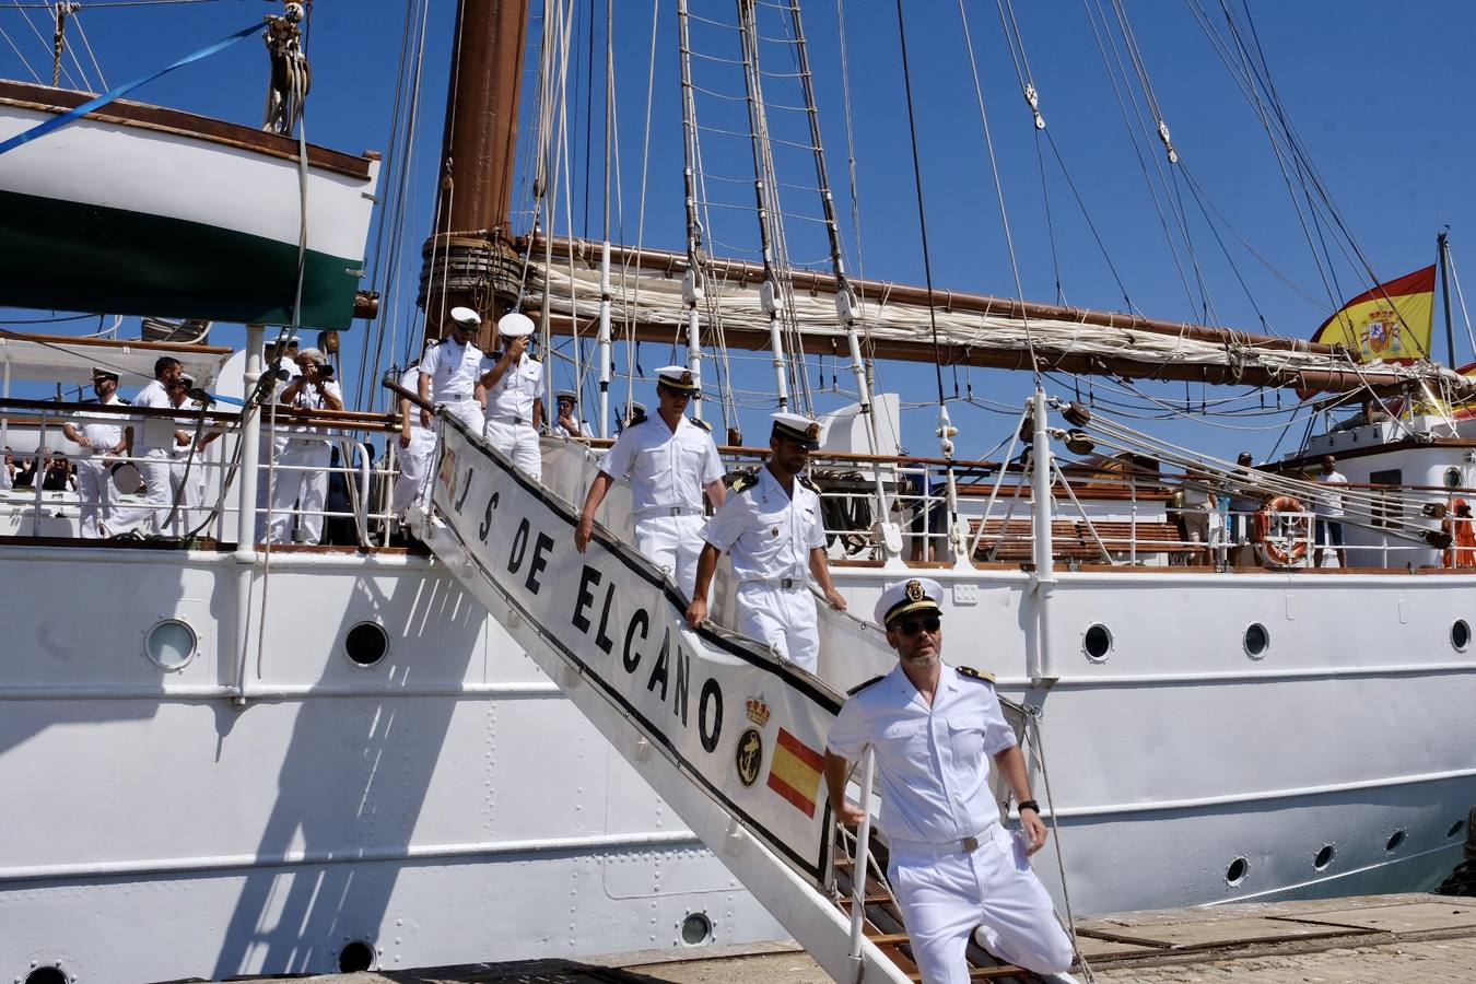
<instances>
[{"instance_id":1,"label":"man in white uniform, third from the bottom of the gangway","mask_svg":"<svg viewBox=\"0 0 1476 984\"><path fill-rule=\"evenodd\" d=\"M698 394L697 381L683 366L655 370L655 416L642 417L620 432L589 485L584 510L574 527L574 547L583 553L595 531L595 510L610 487L630 479L636 516L636 549L660 568L673 572L676 586L694 597L697 558L703 546L703 493L713 507L726 497L723 463L710 425L689 419L686 404Z\"/></svg>"}]
</instances>

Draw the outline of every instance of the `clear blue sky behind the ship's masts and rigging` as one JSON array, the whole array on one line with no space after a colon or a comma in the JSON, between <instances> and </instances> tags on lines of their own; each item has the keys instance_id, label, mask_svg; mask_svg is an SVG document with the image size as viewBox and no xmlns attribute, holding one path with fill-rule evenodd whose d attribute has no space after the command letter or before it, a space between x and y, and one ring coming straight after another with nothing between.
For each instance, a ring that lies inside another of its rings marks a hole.
<instances>
[{"instance_id":1,"label":"clear blue sky behind the ship's masts and rigging","mask_svg":"<svg viewBox=\"0 0 1476 984\"><path fill-rule=\"evenodd\" d=\"M1088 3L1092 10L1098 9L1097 0ZM202 47L276 6L261 0L218 0L156 9L84 7L83 27L109 84L118 84ZM310 46L314 87L308 103L308 137L314 143L347 150L388 152L390 108L406 6L404 0L316 0ZM537 12L539 4L534 1L533 6ZM652 6L658 7L658 60L645 242L682 249L680 117L677 62L672 44L675 0L661 0L658 4L651 0L615 0L624 230L626 239L633 242ZM1259 330L1265 319L1265 326L1277 333L1311 335L1331 307L1328 292L1318 277L1312 251L1256 114L1237 90L1194 16L1196 9L1203 9L1216 25L1222 25L1222 12L1209 0L1139 0L1125 6L1132 18L1154 96L1182 158L1181 189L1187 189L1191 177L1204 190L1206 202L1230 221L1230 226L1216 224L1216 229L1230 245L1232 263L1224 257L1199 205L1185 198L1191 242L1213 308L1213 317L1207 320ZM584 34L586 18L592 6L577 0L574 7L579 16L576 47L582 62L589 37ZM1204 320L1199 286L1191 283L1185 289L1166 245L1142 167L1132 149L1097 47L1088 4L1038 1L1015 7L1048 133L1060 149L1132 302L1153 317ZM604 49L604 3L593 4L593 9L598 21L595 72L599 74L604 71L599 60ZM726 1L694 0L692 9L714 19L732 18L732 4ZM1238 0L1234 9L1243 10ZM835 10L834 0L819 0L804 7L804 16L831 181L849 224ZM918 212L912 195L896 7L889 1L853 0L846 3L844 10L858 145L863 271L872 277L921 283ZM1026 297L1054 299L1060 270L1061 289L1069 302L1123 308L1122 289L1103 249L1083 221L1082 209L1049 148L1038 143L1020 97L996 6L970 1L967 10ZM453 12L450 0L432 0L418 152L421 168L410 183L415 212L407 229L413 248L409 251L406 271L412 279L419 266L419 240L431 223L432 164L441 131L446 52ZM1476 255L1467 248L1467 236L1472 235L1470 230L1476 230L1476 198L1472 195L1469 165L1476 159L1476 139L1469 125L1469 105L1476 94L1469 58L1470 38L1476 35L1476 6L1415 3L1390 7L1371 0L1252 0L1249 12L1286 111L1377 274L1387 279L1433 261L1435 235L1446 224L1451 226L1457 261ZM30 10L30 15L41 24L41 12ZM766 7L760 7L760 15L775 16ZM909 3L906 18L934 282L962 291L1013 295L1014 282L1001 235L993 179L984 158L958 4L949 0ZM778 21L772 24L776 25ZM6 9L4 0L0 0L0 28L19 46L32 68L47 71L46 47L30 32L19 10ZM698 50L720 55L732 41L723 30L697 27L694 44ZM90 69L90 60L86 53L81 55ZM768 68L785 68L779 63L785 55L782 46L765 49L765 55L772 58L766 62ZM700 83L706 80L728 90L735 83L735 77L725 75L726 69L717 62L701 63L698 71L706 72ZM570 72L583 84L583 65L571 65ZM3 40L0 74L28 78L27 68ZM207 62L152 83L133 97L255 122L264 86L266 56L261 44L248 38ZM772 81L772 100L793 102L781 99L785 94L784 86L782 80ZM577 94L577 102L583 103L582 93ZM710 125L732 122L723 115L722 106L722 100L707 99L700 102L698 112ZM596 117L599 112L601 94L596 93ZM775 125L794 124L778 121ZM583 165L579 140L582 137L577 137L576 146ZM593 146L598 155L598 133ZM1045 153L1045 190L1038 146ZM1162 148L1156 142L1141 142L1141 146L1162 159ZM707 136L704 153L714 187L716 177L722 174L751 174L744 170L748 159L742 140ZM778 158L781 180L813 184L813 174L806 173L807 156L781 149ZM1148 167L1154 167L1153 158ZM598 195L598 159L595 168L590 186ZM574 186L576 212L583 214L582 173L576 173ZM1187 190L1184 193L1188 195ZM732 184L725 186L722 195L737 204L745 202L751 190ZM1046 202L1052 217L1049 226L1045 221ZM785 208L799 214L816 212L813 201L800 192L785 192ZM592 221L598 221L598 199L589 204L589 214ZM739 211L722 211L720 215L720 221L714 223L714 235L734 249L751 248L751 217ZM822 243L813 232L812 223L791 224L794 260L822 257ZM855 268L856 235L853 230L846 235ZM1312 299L1287 288L1237 238L1249 240L1281 276ZM1182 258L1181 252L1181 261ZM1367 279L1343 260L1337 261L1334 270L1343 297L1368 286ZM1476 283L1476 274L1472 277L1470 282ZM1241 280L1249 286L1249 298ZM382 289L385 285L369 286ZM0 313L0 323L4 323L3 316ZM388 317L396 319L400 326L412 323L407 310ZM362 326L356 326L357 330ZM1438 342L1441 333L1438 323ZM1464 328L1458 325L1457 333L1458 361L1467 361L1472 354L1464 341ZM229 344L238 341L241 333L226 329L217 338ZM357 351L359 339L351 339L348 348ZM654 351L658 348L663 347L644 347L641 364L646 370L667 361L666 351ZM1438 351L1444 354L1444 342L1439 342ZM748 379L754 389L766 387L769 370L762 363L754 361L742 372L745 375L741 376L741 385L745 388L748 385L744 381ZM813 378L813 367L810 375ZM831 375L827 364L827 384ZM924 404L936 398L931 367L884 366L881 382L899 389L908 403ZM953 385L955 375L945 373L949 394ZM973 370L959 372L956 385L961 391L971 387L976 397L1018 406L1029 391L1029 378ZM1101 400L1116 400L1116 387L1114 381L1103 381L1094 384L1089 392ZM1073 387L1063 379L1054 381L1051 389L1072 392ZM1145 385L1144 389L1163 400L1184 401L1188 395L1196 406L1204 395L1199 387L1185 391L1182 384ZM1082 392L1088 394L1085 384ZM1213 400L1244 392L1218 389L1207 395ZM1286 394L1286 406L1290 407L1293 400ZM841 395L825 395L821 398L821 409L840 403L844 403ZM1268 397L1268 403L1275 406L1275 397ZM1249 403L1237 406L1259 407L1259 398L1250 397ZM962 456L993 447L1011 426L1002 415L989 410L953 407L952 413L964 428L959 440ZM745 412L744 428L750 437L762 432L760 416L762 407L757 406ZM906 413L903 426L911 450L934 453L936 441L930 437L934 420L936 407ZM1150 426L1172 440L1210 453L1231 454L1247 447L1263 454L1275 443L1283 422L1278 417L1253 416L1222 419L1218 425L1194 419ZM1296 428L1289 440L1299 438L1300 429Z\"/></svg>"}]
</instances>

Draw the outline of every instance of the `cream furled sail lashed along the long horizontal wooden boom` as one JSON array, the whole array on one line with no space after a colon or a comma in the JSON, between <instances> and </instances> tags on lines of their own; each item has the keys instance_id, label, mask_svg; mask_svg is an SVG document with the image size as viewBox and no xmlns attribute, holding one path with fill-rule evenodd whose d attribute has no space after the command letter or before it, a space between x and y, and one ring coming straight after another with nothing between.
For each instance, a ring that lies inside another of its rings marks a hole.
<instances>
[{"instance_id":1,"label":"cream furled sail lashed along the long horizontal wooden boom","mask_svg":"<svg viewBox=\"0 0 1476 984\"><path fill-rule=\"evenodd\" d=\"M552 263L545 257L552 252ZM636 338L682 339L688 305L682 295L685 254L617 248L613 252L613 322ZM599 313L599 245L556 239L531 249L525 304L545 304L554 330ZM714 260L706 270L706 304L723 341L735 348L769 347L769 316L760 302L757 264ZM868 354L877 358L1042 369L1147 379L1188 379L1228 385L1297 387L1346 391L1362 387L1418 387L1467 392L1473 381L1429 361L1361 363L1356 351L1225 328L1160 322L1011 298L934 292L939 341L933 342L927 292L881 280L850 282ZM809 353L844 350L846 328L835 314L837 282L824 273L794 273L793 319ZM685 339L683 339L685 341Z\"/></svg>"}]
</instances>

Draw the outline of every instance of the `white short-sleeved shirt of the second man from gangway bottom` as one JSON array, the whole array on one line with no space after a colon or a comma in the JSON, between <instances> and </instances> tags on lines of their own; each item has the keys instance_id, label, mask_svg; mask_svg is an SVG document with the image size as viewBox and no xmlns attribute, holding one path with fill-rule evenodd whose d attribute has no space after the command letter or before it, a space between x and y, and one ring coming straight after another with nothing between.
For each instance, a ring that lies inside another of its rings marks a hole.
<instances>
[{"instance_id":1,"label":"white short-sleeved shirt of the second man from gangway bottom","mask_svg":"<svg viewBox=\"0 0 1476 984\"><path fill-rule=\"evenodd\" d=\"M642 423L641 426L648 426ZM627 428L630 431L638 428ZM739 581L810 575L810 550L825 546L821 497L794 479L794 499L768 466L759 479L737 488L707 522L706 538L719 550L732 550L734 574Z\"/></svg>"}]
</instances>

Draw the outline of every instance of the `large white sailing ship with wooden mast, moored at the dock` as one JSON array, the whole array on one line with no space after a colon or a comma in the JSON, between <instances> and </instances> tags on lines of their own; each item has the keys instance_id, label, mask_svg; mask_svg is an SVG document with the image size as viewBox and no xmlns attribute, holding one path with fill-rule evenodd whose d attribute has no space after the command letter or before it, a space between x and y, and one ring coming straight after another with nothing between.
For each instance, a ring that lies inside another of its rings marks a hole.
<instances>
[{"instance_id":1,"label":"large white sailing ship with wooden mast, moored at the dock","mask_svg":"<svg viewBox=\"0 0 1476 984\"><path fill-rule=\"evenodd\" d=\"M427 9L410 27L424 27ZM459 304L489 326L514 307L537 316L545 351L574 339L565 351L601 435L624 416L642 341L680 347L695 375L722 384L713 415L731 438L741 437L732 351L772 356L769 404L806 410L816 409L809 358L831 358L832 375L849 364L853 403L828 415L830 454L816 462L834 507L835 583L865 612L886 583L927 569L948 593L951 639L989 640L1057 834L1036 863L1069 910L1421 888L1454 866L1476 801L1473 575L1446 543L1461 530L1455 500L1476 488L1452 410L1469 395L1461 373L852 276L804 91L813 72L799 4L738 3L722 25L737 46L728 55L692 38L694 16L713 12L677 4L686 246L579 239L571 209L555 212L571 186L559 109L571 12L549 4L530 35L525 3L459 4L446 170L421 277L427 335ZM775 35L760 18L778 18L797 66L821 270L790 260L775 161L784 137L768 118L763 66ZM607 38L611 24L613 7ZM531 221L518 229L530 38L540 122L525 134ZM716 255L720 202L704 181L717 176L703 164L703 84L691 71L704 55L739 66L760 243L751 261ZM55 87L6 86L0 140L83 105ZM100 167L99 153L134 170ZM81 381L103 364L136 381L154 353L193 360L198 381L245 406L196 415L230 434L207 459L217 507L182 538L61 538L75 522L68 500L6 497L0 611L24 630L0 655L0 777L24 795L0 848L0 968L28 984L221 978L788 934L835 974L862 959L881 980L905 980L884 900L858 898L871 941L847 946L835 879L856 869L834 865L844 838L803 769L844 687L886 668L874 627L827 612L818 677L750 642L683 630L670 583L630 549L618 496L601 516L598 561L549 559L593 474L587 443L548 440L546 481L533 487L444 415L435 479L407 516L430 555L368 546L368 536L353 549L252 546L258 472L275 468L270 453L258 460L270 448L263 417L292 417L263 406L260 379L275 369L263 344L276 326L370 313L360 292L378 286L360 283L370 196L399 198L378 189L378 164L117 100L0 155L0 193L24 205L0 218L0 240L27 251L0 277L0 302L249 326L233 354L4 336L6 426L18 434L55 434L87 409L10 400L12 372ZM154 177L159 167L180 168L179 193L142 195L139 168ZM394 170L409 180L403 164ZM223 181L236 192L229 204L213 193ZM49 227L50 215L72 218ZM117 277L120 261L143 273ZM401 341L418 344L419 329ZM961 459L942 398L939 456L905 456L897 400L871 392L878 360L1021 369L1041 385L1014 407L998 460ZM1352 392L1370 406L1247 472L1089 398L1048 392L1046 367ZM338 428L344 460L394 429L368 406L292 419ZM735 466L762 456L729 444ZM1320 490L1303 471L1328 451L1353 482L1348 546L1359 562L1312 569ZM1253 543L1190 536L1197 485L1265 493ZM368 534L379 518L366 472L354 490L353 519ZM914 510L920 524L899 521ZM546 575L534 574L539 558ZM598 597L587 571L605 586ZM589 614L626 620L624 682L601 668L604 621L549 608L586 593ZM664 676L655 696L654 668L629 668L632 655L646 667L667 655L632 649L636 612L651 633L641 639L676 640L672 658L700 671L689 707L672 704ZM731 612L729 586L719 584L714 612ZM751 783L725 744L739 736L734 718L766 749ZM800 764L787 766L779 792L770 779L785 754ZM852 881L868 891L868 879Z\"/></svg>"}]
</instances>

